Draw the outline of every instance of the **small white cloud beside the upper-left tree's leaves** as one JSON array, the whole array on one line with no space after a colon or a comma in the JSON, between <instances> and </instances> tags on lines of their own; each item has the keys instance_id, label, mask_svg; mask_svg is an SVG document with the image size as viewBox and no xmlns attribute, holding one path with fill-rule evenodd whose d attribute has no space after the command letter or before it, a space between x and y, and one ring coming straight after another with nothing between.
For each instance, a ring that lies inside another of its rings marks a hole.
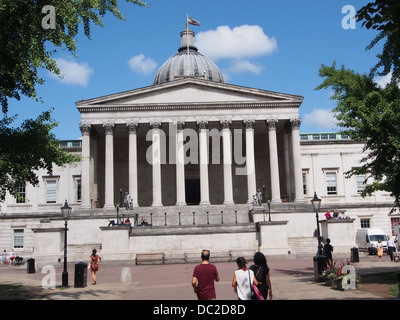
<instances>
[{"instance_id":1,"label":"small white cloud beside the upper-left tree's leaves","mask_svg":"<svg viewBox=\"0 0 400 320\"><path fill-rule=\"evenodd\" d=\"M60 69L62 78L51 73L50 77L60 82L80 85L86 87L89 83L90 75L94 72L86 62L77 62L70 59L56 58L57 66Z\"/></svg>"}]
</instances>

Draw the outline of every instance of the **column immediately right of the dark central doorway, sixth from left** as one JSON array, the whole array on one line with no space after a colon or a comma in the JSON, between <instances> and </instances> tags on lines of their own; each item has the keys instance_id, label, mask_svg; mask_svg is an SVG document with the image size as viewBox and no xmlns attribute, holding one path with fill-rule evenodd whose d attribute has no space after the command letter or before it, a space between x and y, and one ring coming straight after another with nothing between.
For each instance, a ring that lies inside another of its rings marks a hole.
<instances>
[{"instance_id":1,"label":"column immediately right of the dark central doorway, sixth from left","mask_svg":"<svg viewBox=\"0 0 400 320\"><path fill-rule=\"evenodd\" d=\"M199 127L200 149L200 204L210 204L208 189L208 148L207 148L207 121L197 123Z\"/></svg>"}]
</instances>

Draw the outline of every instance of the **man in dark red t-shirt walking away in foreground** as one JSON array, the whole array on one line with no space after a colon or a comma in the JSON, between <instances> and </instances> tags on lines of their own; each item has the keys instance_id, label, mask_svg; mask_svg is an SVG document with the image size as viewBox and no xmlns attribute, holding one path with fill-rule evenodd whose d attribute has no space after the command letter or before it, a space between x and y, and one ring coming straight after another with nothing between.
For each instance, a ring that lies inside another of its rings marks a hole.
<instances>
[{"instance_id":1,"label":"man in dark red t-shirt walking away in foreground","mask_svg":"<svg viewBox=\"0 0 400 320\"><path fill-rule=\"evenodd\" d=\"M201 264L193 270L192 287L199 300L215 300L214 281L219 281L217 267L210 263L210 250L201 252Z\"/></svg>"}]
</instances>

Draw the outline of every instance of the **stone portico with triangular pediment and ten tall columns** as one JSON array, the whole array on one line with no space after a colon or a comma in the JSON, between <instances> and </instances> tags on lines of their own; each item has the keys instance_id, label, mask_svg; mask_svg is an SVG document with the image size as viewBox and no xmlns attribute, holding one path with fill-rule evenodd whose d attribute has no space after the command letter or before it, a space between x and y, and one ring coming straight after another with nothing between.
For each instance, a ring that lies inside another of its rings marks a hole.
<instances>
[{"instance_id":1,"label":"stone portico with triangular pediment and ten tall columns","mask_svg":"<svg viewBox=\"0 0 400 320\"><path fill-rule=\"evenodd\" d=\"M81 208L302 202L302 100L188 77L79 101Z\"/></svg>"}]
</instances>

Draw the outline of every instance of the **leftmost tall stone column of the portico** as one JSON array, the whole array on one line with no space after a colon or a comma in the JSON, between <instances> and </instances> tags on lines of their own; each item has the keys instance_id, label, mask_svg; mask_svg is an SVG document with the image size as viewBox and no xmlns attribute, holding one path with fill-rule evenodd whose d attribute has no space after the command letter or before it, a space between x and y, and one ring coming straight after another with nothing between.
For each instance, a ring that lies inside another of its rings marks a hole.
<instances>
[{"instance_id":1,"label":"leftmost tall stone column of the portico","mask_svg":"<svg viewBox=\"0 0 400 320\"><path fill-rule=\"evenodd\" d=\"M90 125L80 124L82 132L81 208L90 209Z\"/></svg>"}]
</instances>

